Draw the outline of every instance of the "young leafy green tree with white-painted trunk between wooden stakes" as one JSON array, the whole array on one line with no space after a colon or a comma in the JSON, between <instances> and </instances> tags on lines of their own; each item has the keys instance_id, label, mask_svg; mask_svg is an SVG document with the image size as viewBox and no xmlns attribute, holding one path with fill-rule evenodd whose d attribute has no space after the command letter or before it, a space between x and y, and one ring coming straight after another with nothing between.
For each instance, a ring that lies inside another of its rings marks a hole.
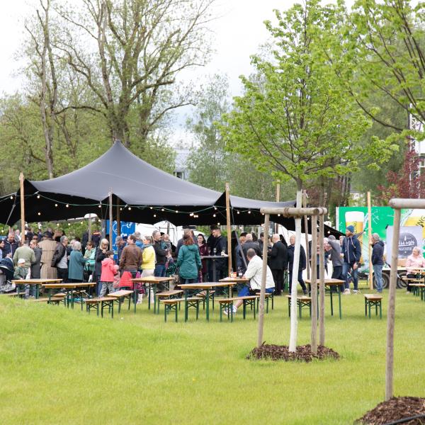
<instances>
[{"instance_id":1,"label":"young leafy green tree with white-painted trunk between wooden stakes","mask_svg":"<svg viewBox=\"0 0 425 425\"><path fill-rule=\"evenodd\" d=\"M276 11L278 25L266 22L275 40L271 60L252 58L261 81L242 77L245 94L234 99L235 110L226 115L221 127L229 152L248 158L276 179L295 181L298 207L307 182L347 174L360 163L376 166L389 157L392 148L390 142L376 138L367 149L357 144L370 121L350 101L336 77L335 68L346 66L335 35L344 13L342 6L320 6L317 0L296 4L283 13ZM295 220L295 270L300 221ZM294 308L296 275L293 273ZM296 341L297 314L293 310L290 351L295 351Z\"/></svg>"}]
</instances>

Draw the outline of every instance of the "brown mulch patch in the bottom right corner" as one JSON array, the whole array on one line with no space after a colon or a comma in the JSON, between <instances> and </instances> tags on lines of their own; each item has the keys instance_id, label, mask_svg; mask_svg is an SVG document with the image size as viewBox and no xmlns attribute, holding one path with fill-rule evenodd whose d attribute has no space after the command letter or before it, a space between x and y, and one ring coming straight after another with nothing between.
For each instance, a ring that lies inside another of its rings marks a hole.
<instances>
[{"instance_id":1,"label":"brown mulch patch in the bottom right corner","mask_svg":"<svg viewBox=\"0 0 425 425\"><path fill-rule=\"evenodd\" d=\"M425 424L425 398L419 397L392 397L387 402L378 404L375 409L370 410L357 424L383 425L392 424L400 419L422 416L410 421L400 421L399 424L424 425Z\"/></svg>"}]
</instances>

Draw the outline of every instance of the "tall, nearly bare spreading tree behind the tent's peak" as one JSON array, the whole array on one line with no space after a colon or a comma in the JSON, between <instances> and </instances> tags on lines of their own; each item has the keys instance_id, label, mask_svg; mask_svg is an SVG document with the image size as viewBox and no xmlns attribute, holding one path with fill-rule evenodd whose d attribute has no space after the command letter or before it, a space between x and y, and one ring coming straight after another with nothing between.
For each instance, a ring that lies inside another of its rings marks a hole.
<instances>
[{"instance_id":1,"label":"tall, nearly bare spreading tree behind the tent's peak","mask_svg":"<svg viewBox=\"0 0 425 425\"><path fill-rule=\"evenodd\" d=\"M208 59L205 25L212 2L62 1L62 56L96 96L95 107L82 106L106 118L113 140L130 147L132 112L136 133L146 141L169 111L193 102L176 79Z\"/></svg>"}]
</instances>

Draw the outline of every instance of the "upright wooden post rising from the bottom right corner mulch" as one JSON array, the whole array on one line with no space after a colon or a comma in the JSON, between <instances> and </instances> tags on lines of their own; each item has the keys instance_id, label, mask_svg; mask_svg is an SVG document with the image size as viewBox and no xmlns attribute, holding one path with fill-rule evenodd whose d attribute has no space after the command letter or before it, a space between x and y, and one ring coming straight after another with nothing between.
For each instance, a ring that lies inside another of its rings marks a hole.
<instances>
[{"instance_id":1,"label":"upright wooden post rising from the bottom right corner mulch","mask_svg":"<svg viewBox=\"0 0 425 425\"><path fill-rule=\"evenodd\" d=\"M389 400L392 397L393 388L392 375L394 371L395 289L397 284L397 259L400 235L400 217L401 210L397 208L394 210L394 227L392 229L390 291L388 295L387 312L387 364L385 367L385 401Z\"/></svg>"}]
</instances>

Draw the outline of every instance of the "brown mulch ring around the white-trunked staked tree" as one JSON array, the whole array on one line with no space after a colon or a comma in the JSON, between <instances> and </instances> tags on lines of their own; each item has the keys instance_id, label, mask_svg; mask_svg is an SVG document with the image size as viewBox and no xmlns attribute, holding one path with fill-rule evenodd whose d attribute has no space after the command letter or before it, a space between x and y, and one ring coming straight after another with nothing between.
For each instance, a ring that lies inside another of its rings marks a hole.
<instances>
[{"instance_id":1,"label":"brown mulch ring around the white-trunked staked tree","mask_svg":"<svg viewBox=\"0 0 425 425\"><path fill-rule=\"evenodd\" d=\"M314 358L323 360L325 358L339 358L339 353L325 346L317 346L317 354L312 353L310 344L297 346L295 353L289 351L288 346L278 346L274 344L264 344L259 348L254 348L246 357L249 359L270 359L284 361L305 361L310 362Z\"/></svg>"}]
</instances>

